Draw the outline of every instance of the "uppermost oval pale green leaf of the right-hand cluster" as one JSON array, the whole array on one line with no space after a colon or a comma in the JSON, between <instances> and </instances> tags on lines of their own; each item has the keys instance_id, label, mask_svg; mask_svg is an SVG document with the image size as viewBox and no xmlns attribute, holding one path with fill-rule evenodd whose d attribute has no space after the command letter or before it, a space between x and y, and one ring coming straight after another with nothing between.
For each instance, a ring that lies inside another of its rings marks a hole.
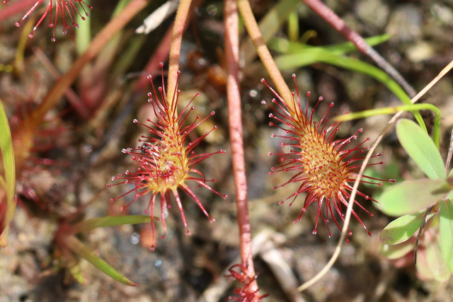
<instances>
[{"instance_id":1,"label":"uppermost oval pale green leaf of the right-hand cluster","mask_svg":"<svg viewBox=\"0 0 453 302\"><path fill-rule=\"evenodd\" d=\"M401 146L428 178L435 180L446 177L439 150L418 124L411 120L399 120L396 124L396 135Z\"/></svg>"}]
</instances>

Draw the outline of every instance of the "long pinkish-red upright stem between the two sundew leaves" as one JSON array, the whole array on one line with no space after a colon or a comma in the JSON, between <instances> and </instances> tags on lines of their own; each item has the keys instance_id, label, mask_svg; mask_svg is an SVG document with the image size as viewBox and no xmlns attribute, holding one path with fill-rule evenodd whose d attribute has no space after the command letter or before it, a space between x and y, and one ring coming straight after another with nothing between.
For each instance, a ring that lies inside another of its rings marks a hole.
<instances>
[{"instance_id":1,"label":"long pinkish-red upright stem between the two sundew leaves","mask_svg":"<svg viewBox=\"0 0 453 302\"><path fill-rule=\"evenodd\" d=\"M225 57L227 62L226 98L228 100L229 137L236 187L236 208L241 241L243 273L253 280L247 291L258 289L253 267L251 226L248 215L246 161L243 151L241 95L239 93L239 16L236 0L224 1Z\"/></svg>"}]
</instances>

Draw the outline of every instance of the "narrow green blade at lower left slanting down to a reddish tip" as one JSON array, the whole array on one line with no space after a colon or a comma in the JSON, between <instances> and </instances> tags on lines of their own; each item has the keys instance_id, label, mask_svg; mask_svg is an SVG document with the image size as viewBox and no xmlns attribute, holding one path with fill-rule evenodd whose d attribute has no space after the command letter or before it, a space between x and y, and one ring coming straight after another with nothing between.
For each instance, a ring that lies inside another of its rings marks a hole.
<instances>
[{"instance_id":1,"label":"narrow green blade at lower left slanting down to a reddish tip","mask_svg":"<svg viewBox=\"0 0 453 302\"><path fill-rule=\"evenodd\" d=\"M84 258L92 265L100 269L101 272L103 272L104 274L107 274L108 276L112 277L116 281L121 282L122 284L126 284L129 286L137 286L137 284L130 281L130 279L124 277L122 274L117 272L113 267L108 265L107 262L98 257L98 255L96 255L92 250L87 248L86 245L84 245L84 243L81 243L81 241L76 237L68 236L66 238L66 243L73 252L75 252L77 255L80 255L80 257Z\"/></svg>"}]
</instances>

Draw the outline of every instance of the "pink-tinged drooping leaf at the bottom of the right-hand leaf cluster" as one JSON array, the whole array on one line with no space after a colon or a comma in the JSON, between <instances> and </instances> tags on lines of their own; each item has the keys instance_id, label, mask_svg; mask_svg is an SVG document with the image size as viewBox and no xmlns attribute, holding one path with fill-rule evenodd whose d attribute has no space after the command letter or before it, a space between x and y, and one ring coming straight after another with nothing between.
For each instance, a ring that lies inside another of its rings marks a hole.
<instances>
[{"instance_id":1,"label":"pink-tinged drooping leaf at the bottom of the right-hand leaf cluster","mask_svg":"<svg viewBox=\"0 0 453 302\"><path fill-rule=\"evenodd\" d=\"M428 232L425 233L425 248L426 260L432 275L437 281L447 281L450 277L450 272L447 264L442 257L439 236L432 236Z\"/></svg>"}]
</instances>

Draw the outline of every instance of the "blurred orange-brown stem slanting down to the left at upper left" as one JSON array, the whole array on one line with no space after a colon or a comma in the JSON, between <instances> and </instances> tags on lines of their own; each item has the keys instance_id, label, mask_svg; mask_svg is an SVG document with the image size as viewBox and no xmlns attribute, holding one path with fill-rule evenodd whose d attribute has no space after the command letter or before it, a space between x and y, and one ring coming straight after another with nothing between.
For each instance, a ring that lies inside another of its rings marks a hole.
<instances>
[{"instance_id":1,"label":"blurred orange-brown stem slanting down to the left at upper left","mask_svg":"<svg viewBox=\"0 0 453 302\"><path fill-rule=\"evenodd\" d=\"M94 37L88 49L82 54L76 62L72 64L71 69L62 76L55 86L47 93L42 103L36 108L36 110L30 116L30 122L35 125L41 124L42 119L45 116L45 113L53 108L61 98L64 93L67 91L69 86L74 83L77 76L79 76L81 70L84 66L90 62L92 59L98 55L107 42L115 36L115 34L120 31L124 26L132 19L134 16L142 11L143 8L147 6L150 0L132 0L127 6L119 13L115 18L113 18L101 32Z\"/></svg>"}]
</instances>

